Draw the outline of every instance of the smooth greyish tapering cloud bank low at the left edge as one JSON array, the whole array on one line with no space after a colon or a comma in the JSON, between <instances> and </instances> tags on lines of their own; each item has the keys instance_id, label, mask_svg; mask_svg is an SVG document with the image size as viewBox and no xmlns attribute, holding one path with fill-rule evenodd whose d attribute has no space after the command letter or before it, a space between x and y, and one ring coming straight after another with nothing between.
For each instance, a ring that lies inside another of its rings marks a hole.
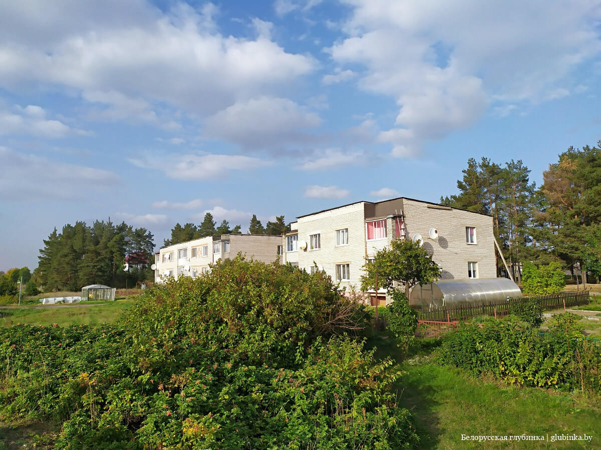
<instances>
[{"instance_id":1,"label":"smooth greyish tapering cloud bank low at the left edge","mask_svg":"<svg viewBox=\"0 0 601 450\"><path fill-rule=\"evenodd\" d=\"M0 194L19 200L81 199L120 184L115 173L66 164L0 146Z\"/></svg>"}]
</instances>

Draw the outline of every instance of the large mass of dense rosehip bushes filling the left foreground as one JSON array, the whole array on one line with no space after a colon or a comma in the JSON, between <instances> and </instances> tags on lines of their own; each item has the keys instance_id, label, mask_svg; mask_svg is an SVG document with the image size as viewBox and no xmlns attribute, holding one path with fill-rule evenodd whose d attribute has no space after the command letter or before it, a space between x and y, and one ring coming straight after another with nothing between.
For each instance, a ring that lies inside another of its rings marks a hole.
<instances>
[{"instance_id":1,"label":"large mass of dense rosehip bushes filling the left foreground","mask_svg":"<svg viewBox=\"0 0 601 450\"><path fill-rule=\"evenodd\" d=\"M70 449L407 448L398 371L342 335L362 314L322 272L225 261L111 326L0 331L0 420Z\"/></svg>"}]
</instances>

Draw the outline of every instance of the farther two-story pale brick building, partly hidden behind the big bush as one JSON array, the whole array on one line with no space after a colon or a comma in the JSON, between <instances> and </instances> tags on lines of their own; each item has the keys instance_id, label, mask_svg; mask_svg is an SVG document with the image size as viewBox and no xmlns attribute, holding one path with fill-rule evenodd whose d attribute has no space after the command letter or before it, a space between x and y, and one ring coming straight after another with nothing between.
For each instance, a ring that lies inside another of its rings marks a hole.
<instances>
[{"instance_id":1,"label":"farther two-story pale brick building, partly hidden behind the big bush","mask_svg":"<svg viewBox=\"0 0 601 450\"><path fill-rule=\"evenodd\" d=\"M187 275L196 278L210 270L219 259L242 253L262 262L273 262L282 254L281 236L236 235L207 236L161 248L154 254L154 281L163 277Z\"/></svg>"}]
</instances>

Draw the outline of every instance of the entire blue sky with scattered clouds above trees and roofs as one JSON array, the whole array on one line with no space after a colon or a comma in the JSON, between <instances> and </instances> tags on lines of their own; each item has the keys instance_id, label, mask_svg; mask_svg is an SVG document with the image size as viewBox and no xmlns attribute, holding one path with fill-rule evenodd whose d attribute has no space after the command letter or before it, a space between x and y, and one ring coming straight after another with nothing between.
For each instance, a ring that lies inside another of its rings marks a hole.
<instances>
[{"instance_id":1,"label":"entire blue sky with scattered clouds above trees and roofs","mask_svg":"<svg viewBox=\"0 0 601 450\"><path fill-rule=\"evenodd\" d=\"M601 2L0 2L0 270L54 227L438 201L601 139Z\"/></svg>"}]
</instances>

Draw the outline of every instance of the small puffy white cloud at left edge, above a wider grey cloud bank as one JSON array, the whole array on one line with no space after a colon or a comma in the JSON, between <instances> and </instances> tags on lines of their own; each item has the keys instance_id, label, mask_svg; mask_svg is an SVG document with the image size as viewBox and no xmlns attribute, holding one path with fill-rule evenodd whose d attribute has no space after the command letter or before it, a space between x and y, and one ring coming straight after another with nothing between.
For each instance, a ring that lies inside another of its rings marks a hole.
<instances>
[{"instance_id":1,"label":"small puffy white cloud at left edge, above a wider grey cloud bank","mask_svg":"<svg viewBox=\"0 0 601 450\"><path fill-rule=\"evenodd\" d=\"M89 135L90 132L69 127L61 121L46 119L46 111L37 105L15 106L15 112L0 110L0 135L31 134L48 138L65 137L70 134Z\"/></svg>"}]
</instances>

